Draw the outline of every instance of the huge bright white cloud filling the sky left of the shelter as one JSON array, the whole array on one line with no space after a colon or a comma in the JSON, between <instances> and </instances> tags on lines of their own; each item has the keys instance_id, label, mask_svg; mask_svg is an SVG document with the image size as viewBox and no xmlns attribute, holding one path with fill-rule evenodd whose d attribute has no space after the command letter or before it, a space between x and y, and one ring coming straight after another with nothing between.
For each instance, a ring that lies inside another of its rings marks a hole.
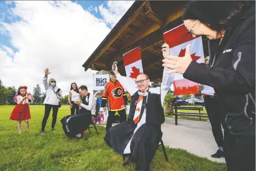
<instances>
[{"instance_id":1,"label":"huge bright white cloud filling the sky left of the shelter","mask_svg":"<svg viewBox=\"0 0 256 171\"><path fill-rule=\"evenodd\" d=\"M64 94L68 94L71 82L77 82L78 86L87 85L92 91L93 73L96 71L84 72L82 64L109 33L106 23L71 1L14 3L14 9L8 12L12 11L10 15L21 20L11 24L0 23L0 33L7 33L12 46L18 50L12 53L13 50L6 46L0 49L0 79L3 84L26 85L28 91L39 84L44 92L44 69L49 68L49 77L56 79ZM121 3L108 4L111 11L124 8ZM118 11L119 19L125 12L121 11ZM116 13L113 17L117 17Z\"/></svg>"}]
</instances>

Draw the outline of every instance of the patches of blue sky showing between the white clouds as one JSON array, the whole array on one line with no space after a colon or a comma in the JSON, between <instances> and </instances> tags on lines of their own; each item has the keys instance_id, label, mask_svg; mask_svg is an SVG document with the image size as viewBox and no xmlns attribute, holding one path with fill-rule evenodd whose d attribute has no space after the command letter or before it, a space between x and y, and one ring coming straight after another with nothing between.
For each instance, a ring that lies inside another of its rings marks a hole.
<instances>
[{"instance_id":1,"label":"patches of blue sky showing between the white clouds","mask_svg":"<svg viewBox=\"0 0 256 171\"><path fill-rule=\"evenodd\" d=\"M84 10L90 11L95 17L98 19L103 19L100 11L96 11L95 7L100 6L103 4L103 7L107 6L106 1L72 1L75 3L80 4ZM6 22L8 24L16 21L20 21L20 18L17 16L12 15L11 8L15 7L15 3L12 1L0 1L0 22ZM107 26L111 29L110 25ZM1 33L0 31L0 47L3 45L12 48L14 52L17 52L18 49L12 46L10 42L10 36L7 33ZM12 57L11 54L9 56Z\"/></svg>"}]
</instances>

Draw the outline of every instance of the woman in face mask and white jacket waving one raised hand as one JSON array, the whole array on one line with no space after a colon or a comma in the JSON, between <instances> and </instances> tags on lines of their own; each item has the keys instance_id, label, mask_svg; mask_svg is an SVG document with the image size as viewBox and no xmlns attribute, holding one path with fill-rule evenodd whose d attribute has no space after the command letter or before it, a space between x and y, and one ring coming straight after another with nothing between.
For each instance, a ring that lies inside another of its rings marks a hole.
<instances>
[{"instance_id":1,"label":"woman in face mask and white jacket waving one raised hand","mask_svg":"<svg viewBox=\"0 0 256 171\"><path fill-rule=\"evenodd\" d=\"M44 78L43 78L43 85L46 89L46 99L44 99L43 104L45 106L44 108L44 117L42 121L42 128L40 134L43 135L44 128L46 127L47 119L50 115L51 109L52 109L52 127L51 130L54 131L56 119L57 119L57 113L59 110L59 103L60 99L63 98L61 89L56 86L56 80L54 78L51 78L48 80L48 75L51 73L49 72L49 69L47 68L44 70Z\"/></svg>"}]
</instances>

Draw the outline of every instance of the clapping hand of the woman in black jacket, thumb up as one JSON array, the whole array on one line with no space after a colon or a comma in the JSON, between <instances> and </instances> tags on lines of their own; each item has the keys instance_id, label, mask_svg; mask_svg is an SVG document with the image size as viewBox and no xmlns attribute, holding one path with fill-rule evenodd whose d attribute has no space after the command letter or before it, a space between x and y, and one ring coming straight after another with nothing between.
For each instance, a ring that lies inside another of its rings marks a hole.
<instances>
[{"instance_id":1,"label":"clapping hand of the woman in black jacket, thumb up","mask_svg":"<svg viewBox=\"0 0 256 171\"><path fill-rule=\"evenodd\" d=\"M192 58L190 56L190 46L190 44L187 45L184 57L168 56L167 59L163 59L163 67L171 69L165 73L185 73L187 67L192 62Z\"/></svg>"}]
</instances>

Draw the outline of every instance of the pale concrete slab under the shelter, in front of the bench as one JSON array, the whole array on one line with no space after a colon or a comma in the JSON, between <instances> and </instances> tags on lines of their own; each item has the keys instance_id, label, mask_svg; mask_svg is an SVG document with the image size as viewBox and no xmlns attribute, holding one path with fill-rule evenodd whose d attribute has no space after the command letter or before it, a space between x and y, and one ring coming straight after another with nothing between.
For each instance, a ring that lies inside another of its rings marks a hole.
<instances>
[{"instance_id":1,"label":"pale concrete slab under the shelter, in front of the bench","mask_svg":"<svg viewBox=\"0 0 256 171\"><path fill-rule=\"evenodd\" d=\"M224 158L214 159L210 157L218 149L210 122L178 119L176 126L173 118L165 118L161 129L164 145L185 149L209 160L225 163Z\"/></svg>"}]
</instances>

